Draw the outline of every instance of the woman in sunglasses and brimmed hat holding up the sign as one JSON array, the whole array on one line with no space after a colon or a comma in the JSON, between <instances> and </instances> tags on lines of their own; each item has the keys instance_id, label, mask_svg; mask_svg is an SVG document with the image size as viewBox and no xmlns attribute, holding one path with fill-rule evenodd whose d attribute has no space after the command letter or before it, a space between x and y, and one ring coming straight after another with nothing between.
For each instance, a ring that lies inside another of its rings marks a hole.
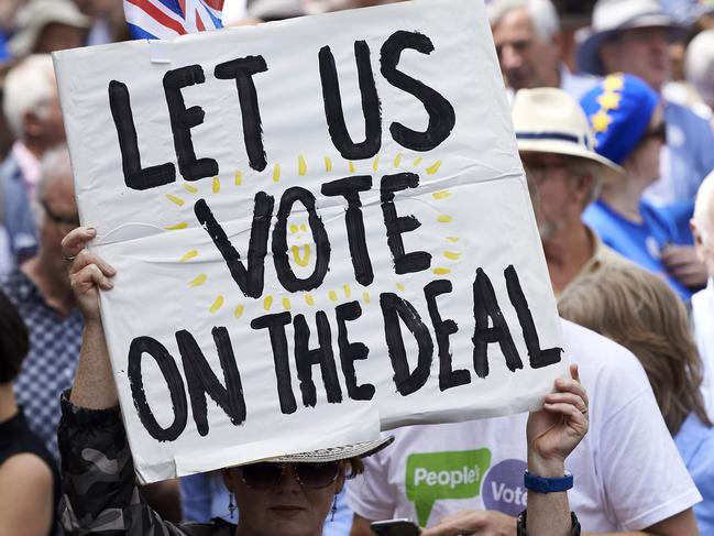
<instances>
[{"instance_id":1,"label":"woman in sunglasses and brimmed hat holding up the sign","mask_svg":"<svg viewBox=\"0 0 714 536\"><path fill-rule=\"evenodd\" d=\"M116 271L85 249L95 237L94 229L77 228L63 240L73 291L85 317L79 363L72 392L63 396L58 431L65 532L98 536L321 536L345 479L362 472L361 459L387 446L392 438L223 469L223 481L235 501L230 507L240 511L238 526L222 519L174 525L145 504L135 484L99 315L98 291L112 288ZM557 472L563 471L565 457L587 430L587 398L576 370L572 374L574 379L556 382L557 392L547 396L543 409L531 414L528 422L529 467L545 469L542 477L552 478L549 470L553 467ZM567 494L529 494L527 522L521 522L518 534L580 534Z\"/></svg>"}]
</instances>

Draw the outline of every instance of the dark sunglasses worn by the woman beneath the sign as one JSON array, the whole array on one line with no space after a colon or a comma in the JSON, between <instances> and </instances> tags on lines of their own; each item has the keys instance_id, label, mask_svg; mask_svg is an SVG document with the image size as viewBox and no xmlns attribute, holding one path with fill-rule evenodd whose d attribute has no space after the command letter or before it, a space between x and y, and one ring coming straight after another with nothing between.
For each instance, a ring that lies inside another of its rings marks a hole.
<instances>
[{"instance_id":1,"label":"dark sunglasses worn by the woman beneath the sign","mask_svg":"<svg viewBox=\"0 0 714 536\"><path fill-rule=\"evenodd\" d=\"M239 472L241 480L249 488L254 490L270 490L277 485L285 475L285 469L290 467L295 480L307 489L319 490L327 488L334 482L340 473L339 461L326 461L320 463L275 463L260 461L249 466L241 466Z\"/></svg>"}]
</instances>

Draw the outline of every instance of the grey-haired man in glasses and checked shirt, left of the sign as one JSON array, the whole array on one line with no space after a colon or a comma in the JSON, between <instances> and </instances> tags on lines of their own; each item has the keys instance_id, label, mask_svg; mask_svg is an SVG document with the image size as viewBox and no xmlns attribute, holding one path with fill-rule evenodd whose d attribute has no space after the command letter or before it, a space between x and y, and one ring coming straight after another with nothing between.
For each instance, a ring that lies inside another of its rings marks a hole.
<instances>
[{"instance_id":1,"label":"grey-haired man in glasses and checked shirt, left of the sign","mask_svg":"<svg viewBox=\"0 0 714 536\"><path fill-rule=\"evenodd\" d=\"M30 427L58 457L59 394L75 373L83 320L69 286L62 239L79 225L66 147L45 153L37 184L37 254L2 282L30 330L31 350L14 382Z\"/></svg>"}]
</instances>

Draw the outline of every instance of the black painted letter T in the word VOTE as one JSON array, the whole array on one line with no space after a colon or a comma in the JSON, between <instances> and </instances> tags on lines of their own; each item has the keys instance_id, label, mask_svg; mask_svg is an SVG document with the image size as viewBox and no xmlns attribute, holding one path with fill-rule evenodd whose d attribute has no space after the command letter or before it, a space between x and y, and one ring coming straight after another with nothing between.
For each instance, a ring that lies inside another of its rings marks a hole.
<instances>
[{"instance_id":1,"label":"black painted letter T in the word VOTE","mask_svg":"<svg viewBox=\"0 0 714 536\"><path fill-rule=\"evenodd\" d=\"M360 192L369 192L372 188L372 177L359 175L354 177L339 178L322 185L322 195L328 197L342 196L348 207L344 212L344 225L347 226L347 238L350 245L350 256L354 277L361 285L367 286L374 281L372 261L364 233L364 219L362 218L362 203Z\"/></svg>"}]
</instances>

